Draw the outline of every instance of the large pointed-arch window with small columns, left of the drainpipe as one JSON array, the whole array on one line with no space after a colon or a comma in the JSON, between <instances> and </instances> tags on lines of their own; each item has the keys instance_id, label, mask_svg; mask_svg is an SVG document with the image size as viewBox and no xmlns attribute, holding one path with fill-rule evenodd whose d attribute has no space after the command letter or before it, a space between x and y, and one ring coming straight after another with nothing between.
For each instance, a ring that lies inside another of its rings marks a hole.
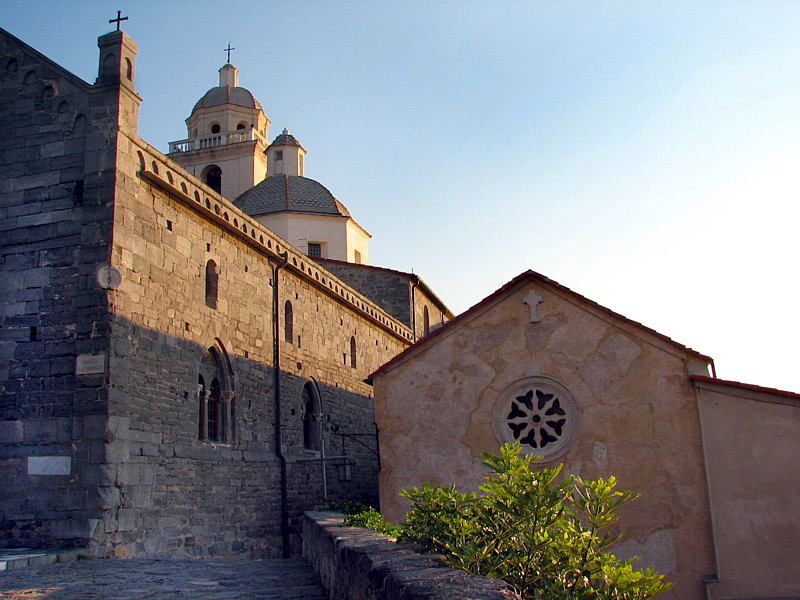
<instances>
[{"instance_id":1,"label":"large pointed-arch window with small columns, left of the drainpipe","mask_svg":"<svg viewBox=\"0 0 800 600\"><path fill-rule=\"evenodd\" d=\"M231 442L234 435L234 396L230 363L217 341L203 353L197 378L197 437L211 442ZM210 383L208 383L210 382Z\"/></svg>"}]
</instances>

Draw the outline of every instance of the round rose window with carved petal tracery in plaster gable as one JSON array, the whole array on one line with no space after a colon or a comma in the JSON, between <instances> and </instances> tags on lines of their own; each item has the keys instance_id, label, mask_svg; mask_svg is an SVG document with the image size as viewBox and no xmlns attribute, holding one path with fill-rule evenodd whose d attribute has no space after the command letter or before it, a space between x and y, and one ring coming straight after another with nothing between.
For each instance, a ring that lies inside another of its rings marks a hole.
<instances>
[{"instance_id":1,"label":"round rose window with carved petal tracery in plaster gable","mask_svg":"<svg viewBox=\"0 0 800 600\"><path fill-rule=\"evenodd\" d=\"M548 460L561 456L575 442L580 408L555 379L526 377L497 399L492 425L501 444L519 442L526 454Z\"/></svg>"}]
</instances>

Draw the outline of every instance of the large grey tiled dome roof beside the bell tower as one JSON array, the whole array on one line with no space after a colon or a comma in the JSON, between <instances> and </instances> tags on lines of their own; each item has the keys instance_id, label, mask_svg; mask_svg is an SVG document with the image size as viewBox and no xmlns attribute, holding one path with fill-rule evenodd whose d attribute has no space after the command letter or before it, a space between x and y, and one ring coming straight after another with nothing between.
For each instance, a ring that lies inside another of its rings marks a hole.
<instances>
[{"instance_id":1,"label":"large grey tiled dome roof beside the bell tower","mask_svg":"<svg viewBox=\"0 0 800 600\"><path fill-rule=\"evenodd\" d=\"M272 175L233 201L251 217L280 212L349 217L328 188L299 175Z\"/></svg>"}]
</instances>

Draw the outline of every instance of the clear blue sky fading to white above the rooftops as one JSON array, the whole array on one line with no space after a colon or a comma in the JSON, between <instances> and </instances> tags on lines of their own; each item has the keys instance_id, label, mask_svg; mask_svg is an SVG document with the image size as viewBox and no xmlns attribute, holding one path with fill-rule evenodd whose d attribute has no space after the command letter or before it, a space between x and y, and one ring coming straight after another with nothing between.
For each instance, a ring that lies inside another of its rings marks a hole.
<instances>
[{"instance_id":1,"label":"clear blue sky fading to white above the rooftops","mask_svg":"<svg viewBox=\"0 0 800 600\"><path fill-rule=\"evenodd\" d=\"M800 2L0 0L0 25L92 82L118 8L162 151L230 41L372 264L454 312L533 269L800 392Z\"/></svg>"}]
</instances>

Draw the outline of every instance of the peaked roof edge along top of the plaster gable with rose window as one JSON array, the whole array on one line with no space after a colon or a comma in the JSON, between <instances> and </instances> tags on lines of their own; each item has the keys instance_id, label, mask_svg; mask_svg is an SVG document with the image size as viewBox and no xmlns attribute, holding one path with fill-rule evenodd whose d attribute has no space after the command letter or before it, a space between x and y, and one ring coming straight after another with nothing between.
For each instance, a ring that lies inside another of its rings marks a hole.
<instances>
[{"instance_id":1,"label":"peaked roof edge along top of the plaster gable with rose window","mask_svg":"<svg viewBox=\"0 0 800 600\"><path fill-rule=\"evenodd\" d=\"M368 381L372 381L372 379L376 375L380 375L380 374L385 373L386 371L394 368L399 363L405 361L412 353L418 351L421 348L424 348L425 346L431 344L433 340L435 340L438 337L440 337L440 336L444 335L445 333L449 332L451 329L454 329L455 327L460 326L462 323L468 321L472 316L476 315L481 310L483 310L484 308L488 307L490 304L492 304L493 302L497 301L502 296L506 295L513 288L517 287L518 285L521 285L523 282L528 281L528 280L538 281L540 283L545 283L547 285L551 285L554 288L556 288L557 290L559 290L561 292L564 292L565 294L567 294L569 296L577 298L578 300L580 300L582 302L586 302L590 306L592 306L592 307L594 307L596 309L599 309L601 312L604 312L607 315L609 315L609 316L611 316L611 317L613 317L615 319L619 319L619 320L623 321L624 323L628 323L629 325L633 325L637 329L641 329L642 331L645 331L650 335L653 335L653 336L655 336L655 337L657 337L657 338L659 338L659 339L661 339L661 340L663 340L665 342L668 342L669 344L671 344L672 346L678 348L679 350L682 350L682 351L687 352L689 354L693 354L693 355L695 355L695 356L697 356L699 358L707 360L708 362L712 362L712 358L710 356L702 354L702 353L698 352L697 350L693 350L692 348L689 348L688 346L684 346L683 344L681 344L679 342L676 342L675 340L673 340L672 338L664 335L663 333L659 333L655 329L651 329L650 327L642 325L638 321L634 321L633 319L629 319L628 317L626 317L624 315L621 315L621 314L619 314L617 312L614 312L610 308L606 308L602 304L598 304L594 300L590 300L586 296L583 296L583 295L579 294L578 292L575 292L575 291L571 290L570 288L568 288L568 287L566 287L564 285L561 285L557 281L553 281L549 277L546 277L545 275L542 275L541 273L537 273L536 271L532 271L532 270L529 269L527 271L524 271L523 273L520 273L519 275L514 277L511 281L509 281L508 283L504 284L503 286L501 286L500 288L495 290L493 293L491 293L488 296L486 296L483 300L481 300L477 304L475 304L475 305L471 306L470 308L468 308L467 310L465 310L463 313L458 315L452 321L448 321L447 323L445 323L441 327L439 327L436 330L432 331L430 334L428 334L425 337L421 338L415 344L412 344L411 346L409 346L408 348L403 350L400 354L398 354L393 359L391 359L390 361L388 361L387 363L385 363L381 367L379 367L376 371L371 373L370 376L368 377Z\"/></svg>"}]
</instances>

